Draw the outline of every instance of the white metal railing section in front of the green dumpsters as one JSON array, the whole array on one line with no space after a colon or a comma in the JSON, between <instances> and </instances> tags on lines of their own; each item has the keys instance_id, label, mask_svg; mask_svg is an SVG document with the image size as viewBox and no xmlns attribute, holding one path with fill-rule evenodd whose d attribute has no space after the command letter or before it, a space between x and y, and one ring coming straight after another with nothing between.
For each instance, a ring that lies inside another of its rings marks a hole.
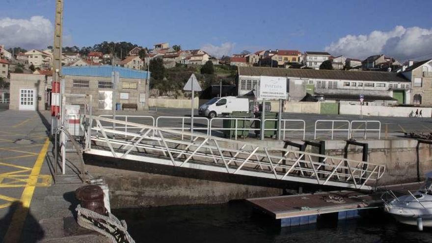
<instances>
[{"instance_id":1,"label":"white metal railing section in front of the green dumpsters","mask_svg":"<svg viewBox=\"0 0 432 243\"><path fill-rule=\"evenodd\" d=\"M234 121L234 127L231 128L223 128L223 122L224 121ZM222 121L222 127L215 127L214 121ZM243 126L239 127L239 121L241 121L241 124ZM246 124L246 121L250 122L250 126L246 127L244 124ZM209 135L212 135L212 131L228 131L228 133L231 135L231 131L234 131L234 139L237 140L237 136L239 135L238 131L241 131L241 135L244 135L244 131L247 131L248 133L250 131L260 131L259 128L253 128L252 124L256 121L261 121L258 118L243 118L243 117L215 117L210 120L210 129L209 129Z\"/></svg>"}]
</instances>

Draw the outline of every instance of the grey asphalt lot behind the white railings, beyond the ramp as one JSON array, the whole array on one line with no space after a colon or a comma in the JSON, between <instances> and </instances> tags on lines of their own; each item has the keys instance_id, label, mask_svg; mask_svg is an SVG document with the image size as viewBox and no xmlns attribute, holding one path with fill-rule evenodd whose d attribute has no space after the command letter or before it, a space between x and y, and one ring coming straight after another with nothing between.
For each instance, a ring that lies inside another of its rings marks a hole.
<instances>
[{"instance_id":1,"label":"grey asphalt lot behind the white railings, beyond the ramp","mask_svg":"<svg viewBox=\"0 0 432 243\"><path fill-rule=\"evenodd\" d=\"M159 116L190 116L190 109L176 109L176 108L151 108L150 111L118 111L119 115L151 115L156 117ZM195 117L198 116L198 111L195 110ZM313 139L315 132L315 122L317 120L347 120L347 121L365 121L365 120L374 120L380 121L381 123L381 137L385 138L386 136L389 138L397 138L404 135L404 133L431 133L432 132L432 118L413 118L413 117L377 117L377 116L364 116L363 118L359 118L356 115L321 115L321 114L300 114L300 113L283 113L284 119L300 119L304 120L306 123L306 139ZM148 118L137 118L132 117L129 118L131 122L138 122L143 124L150 124L151 120ZM160 118L158 122L160 126L163 127L182 127L181 119L174 118ZM198 118L194 121L195 126L199 128L206 127L205 119ZM184 126L186 128L190 128L190 121L185 120ZM216 121L212 124L213 127L222 127L221 121ZM318 129L329 129L331 128L331 122L318 122ZM288 122L286 124L286 128L298 129L302 128L303 125L301 122ZM354 138L361 138L364 135L365 123L364 122L354 122L352 129L358 129L354 134ZM335 137L338 138L347 138L348 136L348 123L347 122L335 122L333 124L334 129L339 129L340 131L335 132ZM378 129L378 123L368 123L368 129ZM201 132L204 132L201 130ZM212 133L213 135L221 136L222 133L219 131L215 131ZM253 136L253 131L250 136ZM301 135L299 132L287 132L287 137L295 137L300 138ZM329 139L331 137L331 132L329 131L318 131L317 139ZM378 138L378 132L370 132L368 134L368 138Z\"/></svg>"}]
</instances>

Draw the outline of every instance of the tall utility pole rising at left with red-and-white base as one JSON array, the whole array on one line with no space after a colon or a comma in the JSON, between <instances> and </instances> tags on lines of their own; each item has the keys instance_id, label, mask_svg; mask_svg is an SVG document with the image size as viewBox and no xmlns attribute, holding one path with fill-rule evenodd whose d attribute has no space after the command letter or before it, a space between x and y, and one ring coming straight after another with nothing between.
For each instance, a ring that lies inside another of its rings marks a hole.
<instances>
[{"instance_id":1,"label":"tall utility pole rising at left with red-and-white base","mask_svg":"<svg viewBox=\"0 0 432 243\"><path fill-rule=\"evenodd\" d=\"M60 119L60 79L61 79L61 49L63 38L63 0L55 1L54 20L54 46L53 46L53 84L51 93L51 132L54 133ZM38 95L38 94L37 94Z\"/></svg>"}]
</instances>

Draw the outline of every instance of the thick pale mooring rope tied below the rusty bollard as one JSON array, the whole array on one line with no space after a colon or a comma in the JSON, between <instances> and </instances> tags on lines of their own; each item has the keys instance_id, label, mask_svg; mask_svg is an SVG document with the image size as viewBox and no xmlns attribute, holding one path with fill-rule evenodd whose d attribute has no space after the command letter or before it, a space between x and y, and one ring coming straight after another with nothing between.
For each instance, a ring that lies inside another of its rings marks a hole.
<instances>
[{"instance_id":1,"label":"thick pale mooring rope tied below the rusty bollard","mask_svg":"<svg viewBox=\"0 0 432 243\"><path fill-rule=\"evenodd\" d=\"M128 233L128 226L125 220L119 220L108 213L103 216L91 210L81 208L78 205L75 209L78 212L77 222L81 227L91 229L107 236L112 243L135 243Z\"/></svg>"}]
</instances>

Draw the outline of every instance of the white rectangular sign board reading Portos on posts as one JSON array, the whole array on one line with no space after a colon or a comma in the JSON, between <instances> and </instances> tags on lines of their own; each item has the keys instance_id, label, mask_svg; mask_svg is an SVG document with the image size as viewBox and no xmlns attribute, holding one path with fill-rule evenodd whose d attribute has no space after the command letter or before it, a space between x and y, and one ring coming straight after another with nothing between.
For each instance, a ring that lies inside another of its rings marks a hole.
<instances>
[{"instance_id":1,"label":"white rectangular sign board reading Portos on posts","mask_svg":"<svg viewBox=\"0 0 432 243\"><path fill-rule=\"evenodd\" d=\"M287 98L287 79L282 77L260 77L260 92L261 99L286 99Z\"/></svg>"}]
</instances>

